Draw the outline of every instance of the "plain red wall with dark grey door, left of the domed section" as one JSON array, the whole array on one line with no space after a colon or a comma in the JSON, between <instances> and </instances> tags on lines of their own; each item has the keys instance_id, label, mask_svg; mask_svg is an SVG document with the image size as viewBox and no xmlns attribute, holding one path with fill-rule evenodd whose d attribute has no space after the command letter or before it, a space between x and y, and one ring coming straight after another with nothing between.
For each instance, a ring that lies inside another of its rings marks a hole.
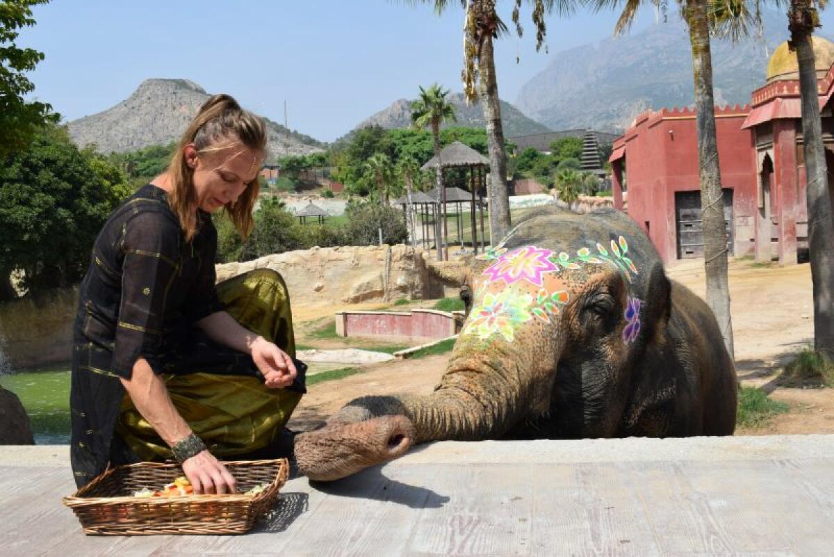
<instances>
[{"instance_id":1,"label":"plain red wall with dark grey door, left of the domed section","mask_svg":"<svg viewBox=\"0 0 834 557\"><path fill-rule=\"evenodd\" d=\"M755 239L756 156L752 133L741 129L749 112L716 108L721 184L733 189L736 255L752 253ZM677 108L645 113L623 136L628 214L648 228L666 262L677 258L675 193L701 188L695 116Z\"/></svg>"}]
</instances>

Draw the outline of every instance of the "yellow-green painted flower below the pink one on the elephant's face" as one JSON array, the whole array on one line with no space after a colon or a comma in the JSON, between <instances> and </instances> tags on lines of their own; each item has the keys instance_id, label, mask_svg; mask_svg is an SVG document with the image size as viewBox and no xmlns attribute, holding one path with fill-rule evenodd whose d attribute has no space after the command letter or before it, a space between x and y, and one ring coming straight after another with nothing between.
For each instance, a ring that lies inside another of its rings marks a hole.
<instances>
[{"instance_id":1,"label":"yellow-green painted flower below the pink one on the elephant's face","mask_svg":"<svg viewBox=\"0 0 834 557\"><path fill-rule=\"evenodd\" d=\"M502 289L495 294L487 292L480 305L472 309L464 334L477 334L481 340L500 334L507 342L512 342L515 326L532 319L532 303L533 296L516 289Z\"/></svg>"}]
</instances>

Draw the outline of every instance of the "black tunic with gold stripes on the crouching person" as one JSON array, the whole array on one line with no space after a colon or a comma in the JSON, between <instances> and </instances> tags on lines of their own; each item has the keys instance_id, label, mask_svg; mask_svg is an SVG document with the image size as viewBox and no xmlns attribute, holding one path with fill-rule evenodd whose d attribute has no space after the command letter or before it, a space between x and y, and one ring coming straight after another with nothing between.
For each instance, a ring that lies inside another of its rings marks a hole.
<instances>
[{"instance_id":1,"label":"black tunic with gold stripes on the crouching person","mask_svg":"<svg viewBox=\"0 0 834 557\"><path fill-rule=\"evenodd\" d=\"M79 486L110 460L129 459L112 443L124 396L119 378L130 378L140 356L157 373L176 373L166 354L188 342L190 324L223 309L214 289L216 250L208 213L199 213L198 233L185 242L166 193L151 184L98 234L73 328L70 455ZM254 364L245 367L238 373L255 374Z\"/></svg>"}]
</instances>

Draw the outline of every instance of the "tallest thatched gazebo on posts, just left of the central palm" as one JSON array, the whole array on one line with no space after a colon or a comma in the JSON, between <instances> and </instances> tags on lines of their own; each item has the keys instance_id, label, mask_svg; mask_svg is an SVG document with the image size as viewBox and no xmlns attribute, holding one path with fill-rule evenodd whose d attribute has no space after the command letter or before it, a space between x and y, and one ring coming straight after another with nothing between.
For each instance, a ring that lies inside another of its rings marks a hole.
<instances>
[{"instance_id":1,"label":"tallest thatched gazebo on posts, just left of the central palm","mask_svg":"<svg viewBox=\"0 0 834 557\"><path fill-rule=\"evenodd\" d=\"M463 246L463 239L460 235L460 228L461 228L461 214L460 214L460 203L469 202L471 203L471 226L472 226L472 247L475 249L475 253L478 253L478 227L477 221L475 219L475 208L476 203L477 207L480 208L480 238L481 238L481 248L484 247L484 203L483 203L483 188L485 185L485 175L486 175L486 168L490 167L490 159L486 158L484 155L475 151L475 149L470 148L460 141L455 141L450 145L447 145L440 151L440 154L436 157L430 158L429 162L425 163L420 170L430 170L436 169L440 166L441 171L445 170L446 168L465 168L469 171L469 185L470 185L470 195L468 199L463 199L459 192L463 193L463 190L460 188L444 188L444 191L437 192L437 188L432 190L434 193L434 198L437 203L440 203L440 208L442 209L443 213L443 224L444 224L444 243L445 238L448 236L448 232L446 228L446 204L447 203L458 203L455 205L457 210L457 217L455 219L455 223L458 227L458 239L460 241L460 245ZM456 191L455 191L456 190ZM438 193L440 195L438 196ZM478 202L475 201L475 195L478 195ZM449 196L455 196L454 199L450 198ZM447 253L448 256L448 253Z\"/></svg>"}]
</instances>

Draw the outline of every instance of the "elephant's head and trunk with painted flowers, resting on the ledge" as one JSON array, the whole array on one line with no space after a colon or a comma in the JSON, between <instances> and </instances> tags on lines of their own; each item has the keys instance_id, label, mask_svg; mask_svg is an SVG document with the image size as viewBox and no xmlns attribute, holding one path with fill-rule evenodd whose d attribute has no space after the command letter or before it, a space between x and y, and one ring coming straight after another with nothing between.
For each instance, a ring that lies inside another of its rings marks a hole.
<instances>
[{"instance_id":1,"label":"elephant's head and trunk with painted flowers, resting on the ledge","mask_svg":"<svg viewBox=\"0 0 834 557\"><path fill-rule=\"evenodd\" d=\"M669 315L671 286L625 214L532 209L470 267L471 308L427 396L354 399L295 455L336 479L439 439L618 434L636 363Z\"/></svg>"}]
</instances>

